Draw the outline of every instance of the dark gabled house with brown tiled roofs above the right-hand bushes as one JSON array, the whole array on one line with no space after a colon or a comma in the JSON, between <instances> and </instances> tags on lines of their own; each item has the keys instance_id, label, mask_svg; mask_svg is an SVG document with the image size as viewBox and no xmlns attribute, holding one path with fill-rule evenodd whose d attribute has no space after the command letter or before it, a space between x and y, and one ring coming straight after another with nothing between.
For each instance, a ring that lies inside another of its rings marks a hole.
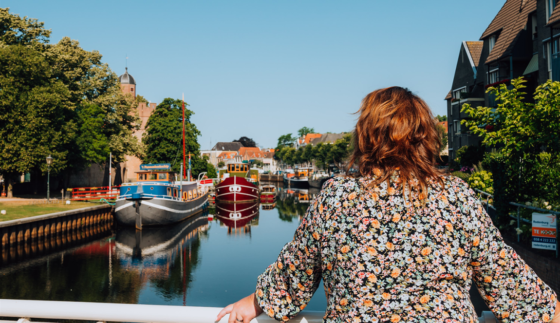
<instances>
[{"instance_id":1,"label":"dark gabled house with brown tiled roofs above the right-hand bushes","mask_svg":"<svg viewBox=\"0 0 560 323\"><path fill-rule=\"evenodd\" d=\"M495 98L486 93L488 86L508 85L513 78L525 77L528 82L524 92L529 93L526 100L531 101L530 94L537 86L548 79L560 81L560 6L556 2L507 0L479 41L463 41L451 91L445 97L450 158L455 158L460 147L480 142L461 131L460 121L467 116L460 109L466 102L497 106ZM470 54L472 72L468 71L465 54Z\"/></svg>"}]
</instances>

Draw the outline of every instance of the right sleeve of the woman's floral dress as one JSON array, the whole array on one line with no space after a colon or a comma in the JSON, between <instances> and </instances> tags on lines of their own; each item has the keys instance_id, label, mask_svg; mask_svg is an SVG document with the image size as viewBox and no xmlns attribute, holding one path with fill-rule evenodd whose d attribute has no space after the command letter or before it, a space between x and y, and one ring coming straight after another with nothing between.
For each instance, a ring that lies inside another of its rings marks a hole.
<instances>
[{"instance_id":1,"label":"right sleeve of the woman's floral dress","mask_svg":"<svg viewBox=\"0 0 560 323\"><path fill-rule=\"evenodd\" d=\"M470 265L480 295L504 323L548 323L554 316L556 293L505 244L474 191L461 186L458 202L467 217Z\"/></svg>"}]
</instances>

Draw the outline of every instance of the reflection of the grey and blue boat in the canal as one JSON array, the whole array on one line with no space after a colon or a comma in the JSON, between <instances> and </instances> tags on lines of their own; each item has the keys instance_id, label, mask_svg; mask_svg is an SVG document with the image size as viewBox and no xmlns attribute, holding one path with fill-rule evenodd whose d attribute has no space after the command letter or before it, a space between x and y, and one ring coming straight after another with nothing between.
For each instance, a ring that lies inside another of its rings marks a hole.
<instances>
[{"instance_id":1,"label":"reflection of the grey and blue boat in the canal","mask_svg":"<svg viewBox=\"0 0 560 323\"><path fill-rule=\"evenodd\" d=\"M115 235L116 256L123 269L137 271L144 278L166 278L178 258L181 273L185 271L193 241L206 230L206 212L172 226L145 227L142 231L119 228Z\"/></svg>"}]
</instances>

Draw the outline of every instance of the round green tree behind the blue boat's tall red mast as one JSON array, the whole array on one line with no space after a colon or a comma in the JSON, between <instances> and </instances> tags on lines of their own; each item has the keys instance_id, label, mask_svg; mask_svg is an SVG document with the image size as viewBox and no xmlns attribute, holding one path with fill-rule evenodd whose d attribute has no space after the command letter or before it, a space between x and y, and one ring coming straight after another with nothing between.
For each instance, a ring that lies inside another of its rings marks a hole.
<instances>
[{"instance_id":1,"label":"round green tree behind the blue boat's tall red mast","mask_svg":"<svg viewBox=\"0 0 560 323\"><path fill-rule=\"evenodd\" d=\"M146 133L142 137L146 146L143 162L171 163L173 171L180 171L183 162L182 103L179 99L168 97L153 111L146 123ZM185 106L188 104L185 103ZM216 174L214 166L208 163L207 159L200 157L200 144L197 141L200 132L190 122L193 114L193 111L185 107L185 152L193 155L190 158L192 176L196 178L201 172ZM188 158L185 167L188 167Z\"/></svg>"}]
</instances>

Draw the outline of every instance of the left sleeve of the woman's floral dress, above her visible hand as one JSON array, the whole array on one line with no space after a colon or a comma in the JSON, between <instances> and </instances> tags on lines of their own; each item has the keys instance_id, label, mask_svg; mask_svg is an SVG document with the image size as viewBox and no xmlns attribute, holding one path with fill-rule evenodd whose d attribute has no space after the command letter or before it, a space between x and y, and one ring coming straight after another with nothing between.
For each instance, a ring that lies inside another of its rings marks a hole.
<instances>
[{"instance_id":1,"label":"left sleeve of the woman's floral dress, above her visible hand","mask_svg":"<svg viewBox=\"0 0 560 323\"><path fill-rule=\"evenodd\" d=\"M326 211L325 183L317 198L307 208L293 240L268 266L256 284L255 296L268 316L286 322L303 310L321 281L321 214Z\"/></svg>"}]
</instances>

